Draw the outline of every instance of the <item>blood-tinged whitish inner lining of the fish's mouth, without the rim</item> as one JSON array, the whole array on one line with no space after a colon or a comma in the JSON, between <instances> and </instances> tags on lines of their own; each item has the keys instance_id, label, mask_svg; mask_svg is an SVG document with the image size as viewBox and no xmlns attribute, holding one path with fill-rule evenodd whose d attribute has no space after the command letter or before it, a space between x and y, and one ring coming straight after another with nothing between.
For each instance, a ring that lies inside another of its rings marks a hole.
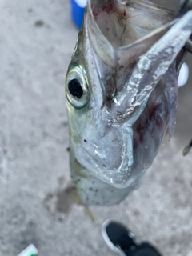
<instances>
[{"instance_id":1,"label":"blood-tinged whitish inner lining of the fish's mouth, without the rim","mask_svg":"<svg viewBox=\"0 0 192 256\"><path fill-rule=\"evenodd\" d=\"M132 44L174 18L172 10L146 0L90 0L88 10L114 49Z\"/></svg>"}]
</instances>

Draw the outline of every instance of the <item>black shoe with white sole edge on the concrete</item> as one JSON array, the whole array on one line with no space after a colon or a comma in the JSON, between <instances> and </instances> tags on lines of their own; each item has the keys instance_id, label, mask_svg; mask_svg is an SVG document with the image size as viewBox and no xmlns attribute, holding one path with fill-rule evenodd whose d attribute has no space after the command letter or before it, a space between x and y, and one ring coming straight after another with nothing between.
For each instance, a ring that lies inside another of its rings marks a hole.
<instances>
[{"instance_id":1,"label":"black shoe with white sole edge on the concrete","mask_svg":"<svg viewBox=\"0 0 192 256\"><path fill-rule=\"evenodd\" d=\"M121 256L161 256L149 242L138 244L126 226L110 219L102 224L102 237L107 246Z\"/></svg>"}]
</instances>

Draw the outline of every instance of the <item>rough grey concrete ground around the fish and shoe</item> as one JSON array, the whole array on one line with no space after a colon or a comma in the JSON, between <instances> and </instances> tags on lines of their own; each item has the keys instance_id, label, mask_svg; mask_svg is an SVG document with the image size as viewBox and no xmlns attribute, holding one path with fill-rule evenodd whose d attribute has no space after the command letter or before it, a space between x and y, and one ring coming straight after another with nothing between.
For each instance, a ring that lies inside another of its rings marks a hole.
<instances>
[{"instance_id":1,"label":"rough grey concrete ground around the fish and shoe","mask_svg":"<svg viewBox=\"0 0 192 256\"><path fill-rule=\"evenodd\" d=\"M100 232L107 218L121 220L165 256L191 256L192 152L182 157L192 137L191 75L179 90L174 137L142 186L118 206L90 207L91 222L66 193L64 84L78 34L69 2L2 0L0 10L0 256L15 256L30 243L40 256L115 255ZM192 68L190 57L186 62Z\"/></svg>"}]
</instances>

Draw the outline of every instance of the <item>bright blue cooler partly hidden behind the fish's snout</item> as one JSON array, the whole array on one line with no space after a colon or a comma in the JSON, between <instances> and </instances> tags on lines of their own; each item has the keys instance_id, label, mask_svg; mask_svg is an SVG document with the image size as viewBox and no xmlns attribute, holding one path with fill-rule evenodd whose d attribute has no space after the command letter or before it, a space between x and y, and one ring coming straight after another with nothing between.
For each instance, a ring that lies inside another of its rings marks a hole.
<instances>
[{"instance_id":1,"label":"bright blue cooler partly hidden behind the fish's snout","mask_svg":"<svg viewBox=\"0 0 192 256\"><path fill-rule=\"evenodd\" d=\"M71 17L78 29L82 27L83 15L86 7L86 0L71 0Z\"/></svg>"}]
</instances>

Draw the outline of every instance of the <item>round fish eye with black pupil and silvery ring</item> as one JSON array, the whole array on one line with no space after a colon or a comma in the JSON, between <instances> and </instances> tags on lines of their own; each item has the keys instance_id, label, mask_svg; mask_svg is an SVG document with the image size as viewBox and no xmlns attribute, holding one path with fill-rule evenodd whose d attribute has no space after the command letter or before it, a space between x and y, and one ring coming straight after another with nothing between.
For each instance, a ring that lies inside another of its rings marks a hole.
<instances>
[{"instance_id":1,"label":"round fish eye with black pupil and silvery ring","mask_svg":"<svg viewBox=\"0 0 192 256\"><path fill-rule=\"evenodd\" d=\"M73 66L66 75L66 98L76 108L86 106L90 99L86 72L82 66Z\"/></svg>"}]
</instances>

